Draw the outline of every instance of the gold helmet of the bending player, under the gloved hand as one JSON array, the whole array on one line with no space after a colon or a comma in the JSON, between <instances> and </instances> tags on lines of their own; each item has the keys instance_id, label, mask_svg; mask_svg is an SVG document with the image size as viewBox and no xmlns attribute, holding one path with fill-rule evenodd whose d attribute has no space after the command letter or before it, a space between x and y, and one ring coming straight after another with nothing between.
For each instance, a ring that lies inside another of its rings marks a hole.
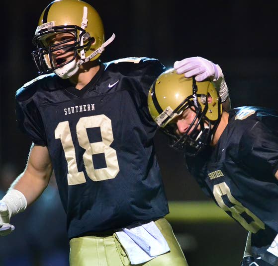
<instances>
[{"instance_id":1,"label":"gold helmet of the bending player, under the gloved hand","mask_svg":"<svg viewBox=\"0 0 278 266\"><path fill-rule=\"evenodd\" d=\"M148 95L148 107L154 121L170 136L170 145L190 155L196 155L211 141L222 114L221 99L212 82L185 78L174 68L154 81ZM187 108L196 116L180 136L176 134L177 117Z\"/></svg>"}]
</instances>

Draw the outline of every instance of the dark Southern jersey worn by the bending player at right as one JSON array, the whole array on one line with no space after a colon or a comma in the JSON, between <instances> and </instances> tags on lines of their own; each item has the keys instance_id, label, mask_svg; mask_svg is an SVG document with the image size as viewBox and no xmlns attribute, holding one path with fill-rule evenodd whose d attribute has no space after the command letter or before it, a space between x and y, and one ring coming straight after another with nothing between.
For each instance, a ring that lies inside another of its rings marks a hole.
<instances>
[{"instance_id":1,"label":"dark Southern jersey worn by the bending player at right","mask_svg":"<svg viewBox=\"0 0 278 266\"><path fill-rule=\"evenodd\" d=\"M203 191L246 230L255 254L278 234L278 113L235 108L214 148L186 157Z\"/></svg>"}]
</instances>

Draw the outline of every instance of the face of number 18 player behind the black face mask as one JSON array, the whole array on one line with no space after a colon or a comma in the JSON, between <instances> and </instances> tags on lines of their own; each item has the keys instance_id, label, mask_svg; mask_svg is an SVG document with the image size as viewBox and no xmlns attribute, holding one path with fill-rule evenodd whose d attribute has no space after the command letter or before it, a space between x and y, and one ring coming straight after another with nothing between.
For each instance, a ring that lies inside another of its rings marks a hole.
<instances>
[{"instance_id":1,"label":"face of number 18 player behind the black face mask","mask_svg":"<svg viewBox=\"0 0 278 266\"><path fill-rule=\"evenodd\" d=\"M71 32L59 33L49 37L46 40L48 46L51 46L51 57L54 67L69 62L74 57L74 50L71 46L74 44L74 34Z\"/></svg>"}]
</instances>

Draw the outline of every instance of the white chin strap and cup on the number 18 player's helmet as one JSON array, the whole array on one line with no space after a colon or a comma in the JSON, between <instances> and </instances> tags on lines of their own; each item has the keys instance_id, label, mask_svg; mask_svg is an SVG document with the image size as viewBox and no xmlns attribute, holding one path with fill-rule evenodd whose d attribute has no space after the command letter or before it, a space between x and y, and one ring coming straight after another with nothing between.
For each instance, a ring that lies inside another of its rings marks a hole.
<instances>
[{"instance_id":1,"label":"white chin strap and cup on the number 18 player's helmet","mask_svg":"<svg viewBox=\"0 0 278 266\"><path fill-rule=\"evenodd\" d=\"M69 64L65 65L64 67L60 67L54 70L54 73L57 74L59 77L66 79L71 77L72 75L76 74L79 67L90 61L94 58L97 54L101 54L104 51L104 48L110 44L115 39L115 34L113 33L112 36L104 42L98 49L96 49L90 56L86 57L85 59L80 59L78 61L73 60Z\"/></svg>"}]
</instances>

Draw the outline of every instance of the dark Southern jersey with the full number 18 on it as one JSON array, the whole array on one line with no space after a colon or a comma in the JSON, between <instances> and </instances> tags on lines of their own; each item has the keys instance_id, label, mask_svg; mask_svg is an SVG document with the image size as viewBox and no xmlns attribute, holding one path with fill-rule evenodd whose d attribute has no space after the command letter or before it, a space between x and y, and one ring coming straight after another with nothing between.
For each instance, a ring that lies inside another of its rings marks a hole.
<instances>
[{"instance_id":1,"label":"dark Southern jersey with the full number 18 on it","mask_svg":"<svg viewBox=\"0 0 278 266\"><path fill-rule=\"evenodd\" d=\"M127 58L101 63L82 90L48 74L16 92L19 127L48 147L70 239L169 212L147 106L163 71L158 60Z\"/></svg>"}]
</instances>

